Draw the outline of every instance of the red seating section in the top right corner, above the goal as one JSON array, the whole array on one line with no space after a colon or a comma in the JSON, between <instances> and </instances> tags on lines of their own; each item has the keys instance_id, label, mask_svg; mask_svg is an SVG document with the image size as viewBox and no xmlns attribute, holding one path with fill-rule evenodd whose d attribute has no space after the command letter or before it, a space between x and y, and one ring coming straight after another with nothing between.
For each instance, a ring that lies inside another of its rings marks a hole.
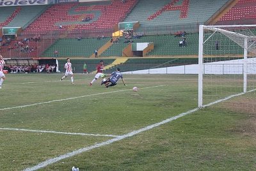
<instances>
[{"instance_id":1,"label":"red seating section in the top right corner, above the goal","mask_svg":"<svg viewBox=\"0 0 256 171\"><path fill-rule=\"evenodd\" d=\"M256 0L239 0L216 25L256 24Z\"/></svg>"}]
</instances>

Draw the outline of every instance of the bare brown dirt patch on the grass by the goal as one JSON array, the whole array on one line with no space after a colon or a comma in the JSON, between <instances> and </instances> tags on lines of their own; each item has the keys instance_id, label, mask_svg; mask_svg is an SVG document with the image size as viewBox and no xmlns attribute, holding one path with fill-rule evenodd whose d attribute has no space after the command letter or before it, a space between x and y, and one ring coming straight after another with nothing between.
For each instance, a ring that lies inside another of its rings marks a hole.
<instances>
[{"instance_id":1,"label":"bare brown dirt patch on the grass by the goal","mask_svg":"<svg viewBox=\"0 0 256 171\"><path fill-rule=\"evenodd\" d=\"M256 99L239 98L236 101L233 100L223 103L223 108L246 115L247 119L237 124L231 130L232 132L242 133L244 136L256 138Z\"/></svg>"}]
</instances>

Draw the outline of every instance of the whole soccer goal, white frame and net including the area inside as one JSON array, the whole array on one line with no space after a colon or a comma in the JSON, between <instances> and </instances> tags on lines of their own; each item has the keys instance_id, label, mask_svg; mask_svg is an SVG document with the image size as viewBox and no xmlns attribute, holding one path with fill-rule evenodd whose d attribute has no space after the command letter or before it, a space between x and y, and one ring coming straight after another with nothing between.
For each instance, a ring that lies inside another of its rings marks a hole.
<instances>
[{"instance_id":1,"label":"whole soccer goal, white frame and net including the area inside","mask_svg":"<svg viewBox=\"0 0 256 171\"><path fill-rule=\"evenodd\" d=\"M200 26L198 107L256 111L256 25Z\"/></svg>"}]
</instances>

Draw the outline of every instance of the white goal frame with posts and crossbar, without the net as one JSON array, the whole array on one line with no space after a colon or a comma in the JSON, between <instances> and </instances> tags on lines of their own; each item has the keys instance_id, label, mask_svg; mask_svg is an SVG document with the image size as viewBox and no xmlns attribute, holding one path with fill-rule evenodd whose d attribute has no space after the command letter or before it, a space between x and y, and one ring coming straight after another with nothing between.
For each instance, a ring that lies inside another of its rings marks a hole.
<instances>
[{"instance_id":1,"label":"white goal frame with posts and crossbar, without the net","mask_svg":"<svg viewBox=\"0 0 256 171\"><path fill-rule=\"evenodd\" d=\"M204 30L210 31L222 31L228 34L236 34L241 38L244 38L243 45L243 93L247 92L247 54L248 54L248 36L240 33L234 33L232 31L227 31L225 29L221 29L221 27L256 27L256 25L227 25L227 26L199 26L199 44L198 44L198 107L202 108L203 105L203 75L204 75ZM253 37L254 38L254 37ZM256 38L256 37L255 37ZM207 41L207 40L205 40Z\"/></svg>"}]
</instances>

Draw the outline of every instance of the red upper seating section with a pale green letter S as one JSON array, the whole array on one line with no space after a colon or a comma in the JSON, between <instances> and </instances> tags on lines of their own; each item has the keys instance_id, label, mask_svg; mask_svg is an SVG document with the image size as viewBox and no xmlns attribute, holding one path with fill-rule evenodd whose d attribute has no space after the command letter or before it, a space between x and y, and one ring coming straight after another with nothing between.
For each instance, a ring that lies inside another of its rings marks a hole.
<instances>
[{"instance_id":1,"label":"red upper seating section with a pale green letter S","mask_svg":"<svg viewBox=\"0 0 256 171\"><path fill-rule=\"evenodd\" d=\"M129 0L122 3L122 1L115 0L111 3L54 4L25 29L24 33L64 32L72 25L75 26L73 31L112 29L116 23L124 20L136 2L136 0ZM90 14L93 18L88 23L82 22L79 21L81 14ZM62 26L61 29L60 26Z\"/></svg>"}]
</instances>

